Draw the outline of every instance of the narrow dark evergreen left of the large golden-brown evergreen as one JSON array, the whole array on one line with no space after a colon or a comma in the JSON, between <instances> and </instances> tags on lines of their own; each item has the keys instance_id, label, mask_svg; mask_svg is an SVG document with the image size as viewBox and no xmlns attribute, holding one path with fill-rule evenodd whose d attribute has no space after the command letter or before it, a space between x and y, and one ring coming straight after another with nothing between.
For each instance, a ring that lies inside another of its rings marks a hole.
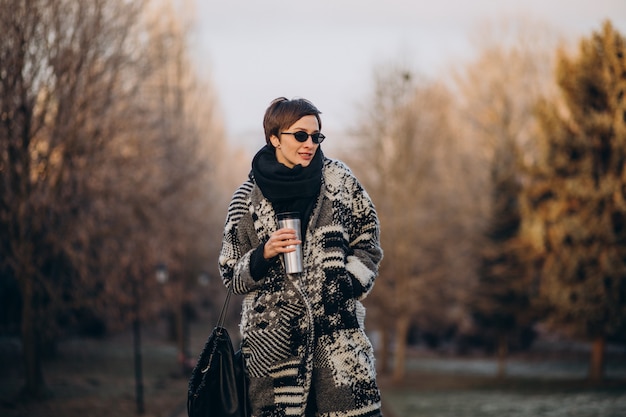
<instances>
[{"instance_id":1,"label":"narrow dark evergreen left of the large golden-brown evergreen","mask_svg":"<svg viewBox=\"0 0 626 417\"><path fill-rule=\"evenodd\" d=\"M529 273L520 227L519 169L515 145L502 146L492 166L492 213L481 251L478 283L471 307L474 320L498 355L498 377L506 374L509 346L532 341Z\"/></svg>"}]
</instances>

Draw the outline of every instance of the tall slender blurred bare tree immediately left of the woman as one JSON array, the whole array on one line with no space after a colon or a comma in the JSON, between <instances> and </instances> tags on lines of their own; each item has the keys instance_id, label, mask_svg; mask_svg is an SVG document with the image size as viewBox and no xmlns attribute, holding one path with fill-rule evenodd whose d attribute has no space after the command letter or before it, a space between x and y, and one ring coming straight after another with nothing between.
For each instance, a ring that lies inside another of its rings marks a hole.
<instances>
[{"instance_id":1,"label":"tall slender blurred bare tree immediately left of the woman","mask_svg":"<svg viewBox=\"0 0 626 417\"><path fill-rule=\"evenodd\" d=\"M234 186L223 184L226 175L220 172L228 163L228 149L216 98L188 55L187 30L193 22L182 20L167 3L155 12L156 21L149 25L155 33L149 56L162 65L147 80L146 104L152 108L160 144L154 160L160 167L159 215L167 219L155 230L161 242L155 249L159 262L169 269L167 285L173 291L166 293L172 297L166 302L176 306L178 344L184 357L189 353L184 315L190 289L198 285L201 274L215 272L223 213Z\"/></svg>"}]
</instances>

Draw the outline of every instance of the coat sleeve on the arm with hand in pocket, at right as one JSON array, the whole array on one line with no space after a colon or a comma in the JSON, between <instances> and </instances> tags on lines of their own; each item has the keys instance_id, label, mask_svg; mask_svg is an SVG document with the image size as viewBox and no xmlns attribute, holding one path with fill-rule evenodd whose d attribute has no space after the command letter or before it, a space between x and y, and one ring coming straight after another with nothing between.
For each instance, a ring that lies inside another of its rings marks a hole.
<instances>
[{"instance_id":1,"label":"coat sleeve on the arm with hand in pocket, at right","mask_svg":"<svg viewBox=\"0 0 626 417\"><path fill-rule=\"evenodd\" d=\"M352 219L346 270L353 279L355 297L362 300L374 286L383 251L374 203L358 180L352 179Z\"/></svg>"}]
</instances>

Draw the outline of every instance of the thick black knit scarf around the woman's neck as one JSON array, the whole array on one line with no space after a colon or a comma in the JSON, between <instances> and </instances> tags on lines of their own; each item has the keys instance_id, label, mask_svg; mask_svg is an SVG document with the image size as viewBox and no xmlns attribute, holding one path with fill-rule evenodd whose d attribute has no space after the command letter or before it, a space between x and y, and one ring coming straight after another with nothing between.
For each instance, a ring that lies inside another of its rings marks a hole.
<instances>
[{"instance_id":1,"label":"thick black knit scarf around the woman's neck","mask_svg":"<svg viewBox=\"0 0 626 417\"><path fill-rule=\"evenodd\" d=\"M304 226L320 191L323 159L322 149L318 148L307 167L288 168L276 160L276 150L266 145L252 159L250 176L277 213L297 211Z\"/></svg>"}]
</instances>

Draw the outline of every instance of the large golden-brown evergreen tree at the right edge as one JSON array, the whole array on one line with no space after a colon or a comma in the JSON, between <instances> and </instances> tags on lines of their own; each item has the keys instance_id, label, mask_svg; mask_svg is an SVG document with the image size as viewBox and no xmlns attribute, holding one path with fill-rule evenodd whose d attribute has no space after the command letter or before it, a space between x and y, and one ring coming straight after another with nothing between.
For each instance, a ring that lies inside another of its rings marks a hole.
<instances>
[{"instance_id":1,"label":"large golden-brown evergreen tree at the right edge","mask_svg":"<svg viewBox=\"0 0 626 417\"><path fill-rule=\"evenodd\" d=\"M606 22L558 54L560 99L537 117L544 153L524 188L523 229L540 263L547 322L593 341L603 377L607 337L626 334L626 41ZM621 336L620 336L621 335Z\"/></svg>"}]
</instances>

